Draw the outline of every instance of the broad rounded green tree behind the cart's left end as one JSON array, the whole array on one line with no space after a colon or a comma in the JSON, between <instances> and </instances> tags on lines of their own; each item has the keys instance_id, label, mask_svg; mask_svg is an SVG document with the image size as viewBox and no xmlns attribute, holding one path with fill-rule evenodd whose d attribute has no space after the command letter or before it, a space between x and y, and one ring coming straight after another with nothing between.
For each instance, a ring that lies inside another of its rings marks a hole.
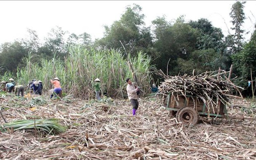
<instances>
[{"instance_id":1,"label":"broad rounded green tree behind the cart's left end","mask_svg":"<svg viewBox=\"0 0 256 160\"><path fill-rule=\"evenodd\" d=\"M152 21L155 27L154 48L156 50L152 56L156 59L156 67L163 72L168 70L172 75L179 73L178 70L175 70L178 66L177 59L186 60L188 55L196 50L196 38L199 36L198 30L184 23L183 18L181 16L173 25L171 22L167 22L164 16Z\"/></svg>"}]
</instances>

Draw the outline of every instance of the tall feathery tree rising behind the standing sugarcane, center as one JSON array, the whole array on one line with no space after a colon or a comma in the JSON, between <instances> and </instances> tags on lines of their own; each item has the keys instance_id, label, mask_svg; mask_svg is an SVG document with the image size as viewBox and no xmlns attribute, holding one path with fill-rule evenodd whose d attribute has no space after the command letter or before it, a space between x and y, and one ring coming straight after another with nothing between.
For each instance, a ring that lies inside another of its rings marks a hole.
<instances>
[{"instance_id":1,"label":"tall feathery tree rising behind the standing sugarcane, center","mask_svg":"<svg viewBox=\"0 0 256 160\"><path fill-rule=\"evenodd\" d=\"M152 45L152 36L150 27L145 26L144 14L141 11L142 8L137 4L127 6L120 20L114 21L110 27L104 26L104 37L96 40L95 45L100 48L122 49L123 44L132 55L149 48Z\"/></svg>"}]
</instances>

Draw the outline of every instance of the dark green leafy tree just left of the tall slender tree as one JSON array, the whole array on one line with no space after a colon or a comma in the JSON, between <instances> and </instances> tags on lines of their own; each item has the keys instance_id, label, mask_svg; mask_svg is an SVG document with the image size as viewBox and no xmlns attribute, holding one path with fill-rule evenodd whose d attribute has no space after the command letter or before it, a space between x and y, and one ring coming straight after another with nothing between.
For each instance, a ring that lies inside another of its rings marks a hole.
<instances>
[{"instance_id":1,"label":"dark green leafy tree just left of the tall slender tree","mask_svg":"<svg viewBox=\"0 0 256 160\"><path fill-rule=\"evenodd\" d=\"M204 67L207 66L207 70L218 70L219 67L223 70L229 69L231 58L230 51L227 50L227 47L229 47L227 44L232 44L233 39L229 37L224 39L222 30L212 26L212 23L206 18L197 21L190 20L188 24L200 32L200 36L197 38L197 46L200 52L195 52L195 55L202 57L200 58L202 60L201 64ZM194 59L194 57L190 57L190 59Z\"/></svg>"}]
</instances>

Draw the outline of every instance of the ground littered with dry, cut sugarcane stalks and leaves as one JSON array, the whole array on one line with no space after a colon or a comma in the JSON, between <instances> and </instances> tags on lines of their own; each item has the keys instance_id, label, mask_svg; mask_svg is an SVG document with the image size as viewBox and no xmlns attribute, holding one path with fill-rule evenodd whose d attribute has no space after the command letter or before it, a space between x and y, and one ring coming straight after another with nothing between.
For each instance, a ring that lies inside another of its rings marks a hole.
<instances>
[{"instance_id":1,"label":"ground littered with dry, cut sugarcane stalks and leaves","mask_svg":"<svg viewBox=\"0 0 256 160\"><path fill-rule=\"evenodd\" d=\"M232 99L228 116L255 117L255 102ZM141 98L136 116L128 100L48 96L0 97L7 122L58 118L58 135L40 130L0 132L1 160L255 160L255 120L200 118L183 126L156 98ZM250 109L252 108L252 109ZM0 119L1 125L5 122Z\"/></svg>"}]
</instances>

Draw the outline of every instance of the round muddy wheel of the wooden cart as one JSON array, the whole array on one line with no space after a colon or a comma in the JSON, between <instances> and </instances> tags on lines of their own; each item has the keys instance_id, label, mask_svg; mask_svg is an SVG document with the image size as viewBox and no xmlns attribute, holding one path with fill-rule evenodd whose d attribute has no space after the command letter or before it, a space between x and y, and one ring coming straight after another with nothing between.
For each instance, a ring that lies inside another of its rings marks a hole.
<instances>
[{"instance_id":1,"label":"round muddy wheel of the wooden cart","mask_svg":"<svg viewBox=\"0 0 256 160\"><path fill-rule=\"evenodd\" d=\"M196 110L191 107L183 107L180 108L176 114L176 119L178 122L182 122L184 124L192 124L195 125L198 122L199 116Z\"/></svg>"}]
</instances>

